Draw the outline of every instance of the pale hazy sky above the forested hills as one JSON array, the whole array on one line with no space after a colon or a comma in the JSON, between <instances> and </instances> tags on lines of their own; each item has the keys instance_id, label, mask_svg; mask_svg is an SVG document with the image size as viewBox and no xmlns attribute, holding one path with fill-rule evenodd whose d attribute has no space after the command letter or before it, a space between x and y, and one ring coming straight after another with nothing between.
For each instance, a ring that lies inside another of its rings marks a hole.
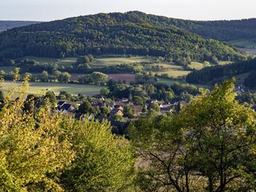
<instances>
[{"instance_id":1,"label":"pale hazy sky above the forested hills","mask_svg":"<svg viewBox=\"0 0 256 192\"><path fill-rule=\"evenodd\" d=\"M53 21L86 14L139 10L169 18L256 18L255 0L0 0L0 20Z\"/></svg>"}]
</instances>

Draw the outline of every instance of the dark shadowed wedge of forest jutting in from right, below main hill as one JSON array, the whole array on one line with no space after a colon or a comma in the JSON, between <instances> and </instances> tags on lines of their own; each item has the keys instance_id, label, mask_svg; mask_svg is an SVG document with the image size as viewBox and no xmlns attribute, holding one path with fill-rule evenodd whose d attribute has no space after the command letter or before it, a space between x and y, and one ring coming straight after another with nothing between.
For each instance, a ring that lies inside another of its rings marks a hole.
<instances>
[{"instance_id":1,"label":"dark shadowed wedge of forest jutting in from right, below main hill","mask_svg":"<svg viewBox=\"0 0 256 192\"><path fill-rule=\"evenodd\" d=\"M218 78L228 78L238 74L244 74L256 70L256 58L246 62L237 62L225 66L206 67L196 70L186 76L186 82L208 83Z\"/></svg>"}]
</instances>

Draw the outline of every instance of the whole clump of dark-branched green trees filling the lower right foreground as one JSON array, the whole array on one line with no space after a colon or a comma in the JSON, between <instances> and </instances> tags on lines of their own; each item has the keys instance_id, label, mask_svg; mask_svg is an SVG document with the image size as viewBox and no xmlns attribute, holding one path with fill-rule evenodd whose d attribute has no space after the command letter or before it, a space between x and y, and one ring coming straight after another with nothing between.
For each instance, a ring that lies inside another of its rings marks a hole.
<instances>
[{"instance_id":1,"label":"whole clump of dark-branched green trees filling the lower right foreground","mask_svg":"<svg viewBox=\"0 0 256 192\"><path fill-rule=\"evenodd\" d=\"M173 118L142 118L130 124L130 137L142 158L141 189L255 188L256 116L238 104L233 90L234 79L225 81L211 92L202 91Z\"/></svg>"}]
</instances>

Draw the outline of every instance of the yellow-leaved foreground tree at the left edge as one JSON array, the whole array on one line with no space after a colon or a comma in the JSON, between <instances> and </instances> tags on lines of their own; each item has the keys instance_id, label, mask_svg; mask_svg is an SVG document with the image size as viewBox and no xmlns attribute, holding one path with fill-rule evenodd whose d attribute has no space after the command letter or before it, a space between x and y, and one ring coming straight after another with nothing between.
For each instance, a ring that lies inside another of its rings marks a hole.
<instances>
[{"instance_id":1,"label":"yellow-leaved foreground tree at the left edge","mask_svg":"<svg viewBox=\"0 0 256 192\"><path fill-rule=\"evenodd\" d=\"M27 82L7 95L0 111L0 190L61 191L55 178L74 158L62 129L65 121L49 105L36 116L23 112L26 87ZM17 93L18 99L11 102Z\"/></svg>"}]
</instances>

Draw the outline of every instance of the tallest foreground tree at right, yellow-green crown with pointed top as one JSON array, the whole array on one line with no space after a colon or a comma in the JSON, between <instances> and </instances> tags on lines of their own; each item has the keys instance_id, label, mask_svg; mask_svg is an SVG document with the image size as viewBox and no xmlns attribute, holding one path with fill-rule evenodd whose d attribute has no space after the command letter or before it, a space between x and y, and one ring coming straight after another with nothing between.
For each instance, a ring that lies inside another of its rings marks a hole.
<instances>
[{"instance_id":1,"label":"tallest foreground tree at right, yellow-green crown with pointed top","mask_svg":"<svg viewBox=\"0 0 256 192\"><path fill-rule=\"evenodd\" d=\"M209 191L238 190L238 182L242 187L243 167L254 148L255 115L234 99L233 83L215 86L209 96L197 98L177 116L177 126L190 132L186 139L196 147L193 158L208 178Z\"/></svg>"}]
</instances>

